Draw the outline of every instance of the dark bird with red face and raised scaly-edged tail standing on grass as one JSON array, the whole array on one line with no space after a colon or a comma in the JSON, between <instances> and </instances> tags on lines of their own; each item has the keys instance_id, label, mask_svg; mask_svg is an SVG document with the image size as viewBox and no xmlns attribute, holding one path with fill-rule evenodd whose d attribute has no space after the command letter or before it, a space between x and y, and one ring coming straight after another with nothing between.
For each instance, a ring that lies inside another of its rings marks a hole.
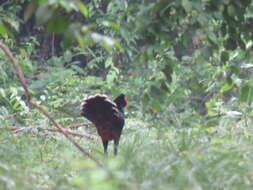
<instances>
[{"instance_id":1,"label":"dark bird with red face and raised scaly-edged tail standing on grass","mask_svg":"<svg viewBox=\"0 0 253 190\"><path fill-rule=\"evenodd\" d=\"M103 141L104 151L107 153L108 141L114 141L114 153L117 147L125 122L123 107L127 99L123 94L114 101L106 95L95 94L84 99L81 103L81 115L91 121Z\"/></svg>"}]
</instances>

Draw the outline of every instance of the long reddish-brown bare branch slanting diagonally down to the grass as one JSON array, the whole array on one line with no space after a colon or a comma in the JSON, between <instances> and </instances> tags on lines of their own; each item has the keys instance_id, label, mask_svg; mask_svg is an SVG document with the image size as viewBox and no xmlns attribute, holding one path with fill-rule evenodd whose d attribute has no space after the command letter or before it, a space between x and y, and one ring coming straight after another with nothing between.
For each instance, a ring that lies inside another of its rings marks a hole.
<instances>
[{"instance_id":1,"label":"long reddish-brown bare branch slanting diagonally down to the grass","mask_svg":"<svg viewBox=\"0 0 253 190\"><path fill-rule=\"evenodd\" d=\"M10 59L11 65L16 71L16 75L22 85L22 87L25 90L25 96L27 98L27 102L34 106L36 109L38 109L41 113L43 113L52 123L53 125L59 130L60 133L62 133L80 152L82 152L84 155L88 156L90 159L96 162L96 164L100 167L103 167L103 165L98 161L95 157L93 157L92 154L90 154L88 151L86 151L81 145L79 145L74 139L72 139L60 126L58 122L55 121L53 116L51 116L42 106L40 106L37 102L32 100L32 96L28 90L28 85L24 76L23 71L19 67L17 61L15 60L12 52L8 47L6 47L2 42L0 42L0 48L4 51L4 53L7 55L7 57Z\"/></svg>"}]
</instances>

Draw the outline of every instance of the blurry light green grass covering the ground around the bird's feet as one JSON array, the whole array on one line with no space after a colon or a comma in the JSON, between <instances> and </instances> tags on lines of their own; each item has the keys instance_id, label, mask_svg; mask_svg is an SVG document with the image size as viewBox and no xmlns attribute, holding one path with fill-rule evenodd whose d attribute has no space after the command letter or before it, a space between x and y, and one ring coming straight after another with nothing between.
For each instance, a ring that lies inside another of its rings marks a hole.
<instances>
[{"instance_id":1,"label":"blurry light green grass covering the ground around the bird's feet","mask_svg":"<svg viewBox=\"0 0 253 190\"><path fill-rule=\"evenodd\" d=\"M252 189L252 129L223 118L215 128L158 129L128 119L119 155L99 140L76 138L105 168L60 134L0 134L0 189ZM248 124L248 126L250 126Z\"/></svg>"}]
</instances>

